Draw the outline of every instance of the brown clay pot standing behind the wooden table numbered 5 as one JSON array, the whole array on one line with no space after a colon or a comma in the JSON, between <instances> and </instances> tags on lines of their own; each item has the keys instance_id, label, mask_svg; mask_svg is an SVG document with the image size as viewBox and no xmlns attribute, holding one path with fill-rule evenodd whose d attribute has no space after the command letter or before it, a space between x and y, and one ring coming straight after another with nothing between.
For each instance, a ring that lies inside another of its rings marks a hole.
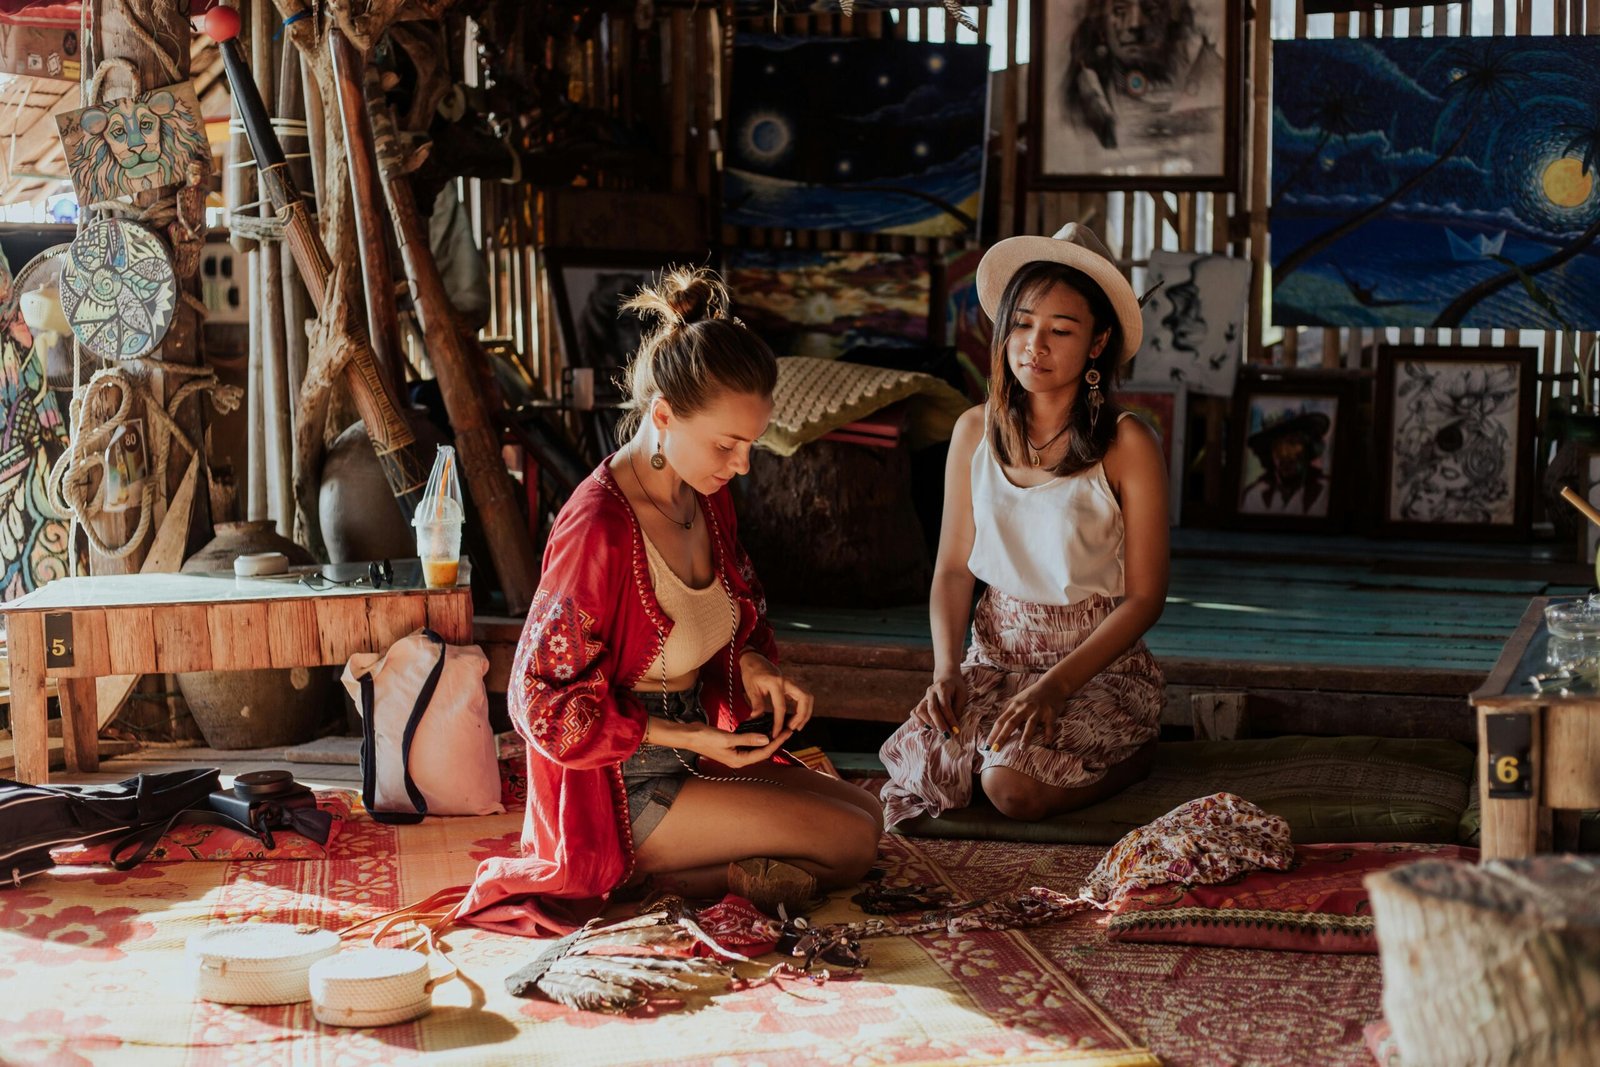
<instances>
[{"instance_id":1,"label":"brown clay pot standing behind the wooden table numbered 5","mask_svg":"<svg viewBox=\"0 0 1600 1067\"><path fill-rule=\"evenodd\" d=\"M280 537L274 523L219 523L216 537L189 557L182 571L229 571L234 558L282 552L290 563L312 555ZM338 685L338 667L270 670L197 670L178 675L178 688L213 749L267 749L317 736Z\"/></svg>"}]
</instances>

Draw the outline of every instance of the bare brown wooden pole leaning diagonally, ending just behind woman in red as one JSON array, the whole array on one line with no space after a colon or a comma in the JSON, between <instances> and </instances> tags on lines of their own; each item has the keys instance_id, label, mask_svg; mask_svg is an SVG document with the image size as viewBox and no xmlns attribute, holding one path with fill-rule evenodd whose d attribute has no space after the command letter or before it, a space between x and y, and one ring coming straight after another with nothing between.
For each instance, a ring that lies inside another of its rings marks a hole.
<instances>
[{"instance_id":1,"label":"bare brown wooden pole leaning diagonally, ending just behind woman in red","mask_svg":"<svg viewBox=\"0 0 1600 1067\"><path fill-rule=\"evenodd\" d=\"M456 451L461 453L467 491L472 493L472 502L477 504L483 522L490 555L494 557L494 569L499 573L510 613L522 614L533 603L533 592L539 584L533 539L528 536L528 523L517 502L517 486L501 459L499 434L483 403L475 363L461 342L461 326L445 291L445 280L438 274L434 250L427 243L427 226L416 208L411 179L403 173L394 114L382 99L376 75L368 75L366 93L389 214L394 216L400 256L405 259L406 280L411 285L411 301L427 341L429 362L434 365L445 411L450 414L450 427L456 435Z\"/></svg>"}]
</instances>

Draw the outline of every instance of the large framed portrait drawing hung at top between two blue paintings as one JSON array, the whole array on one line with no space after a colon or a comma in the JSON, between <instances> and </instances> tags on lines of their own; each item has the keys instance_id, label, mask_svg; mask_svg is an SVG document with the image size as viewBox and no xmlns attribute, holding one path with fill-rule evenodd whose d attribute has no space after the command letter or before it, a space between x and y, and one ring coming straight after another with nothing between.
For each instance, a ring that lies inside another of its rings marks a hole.
<instances>
[{"instance_id":1,"label":"large framed portrait drawing hung at top between two blue paintings","mask_svg":"<svg viewBox=\"0 0 1600 1067\"><path fill-rule=\"evenodd\" d=\"M1034 187L1237 189L1242 3L1034 0Z\"/></svg>"}]
</instances>

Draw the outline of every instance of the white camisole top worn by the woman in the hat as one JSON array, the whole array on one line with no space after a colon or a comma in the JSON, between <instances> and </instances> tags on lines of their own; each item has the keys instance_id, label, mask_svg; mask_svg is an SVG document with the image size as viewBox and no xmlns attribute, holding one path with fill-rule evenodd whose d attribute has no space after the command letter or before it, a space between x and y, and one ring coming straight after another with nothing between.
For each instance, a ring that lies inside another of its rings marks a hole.
<instances>
[{"instance_id":1,"label":"white camisole top worn by the woman in the hat","mask_svg":"<svg viewBox=\"0 0 1600 1067\"><path fill-rule=\"evenodd\" d=\"M973 552L966 560L973 577L1045 605L1122 597L1122 506L1104 464L1019 486L1000 466L986 416L984 440L973 450Z\"/></svg>"}]
</instances>

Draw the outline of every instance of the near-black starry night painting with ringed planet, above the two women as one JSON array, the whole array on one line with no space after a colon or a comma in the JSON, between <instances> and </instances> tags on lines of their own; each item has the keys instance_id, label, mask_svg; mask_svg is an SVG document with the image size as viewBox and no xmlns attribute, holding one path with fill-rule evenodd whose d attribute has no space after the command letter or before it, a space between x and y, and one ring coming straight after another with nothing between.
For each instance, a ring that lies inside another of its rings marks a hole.
<instances>
[{"instance_id":1,"label":"near-black starry night painting with ringed planet, above the two women","mask_svg":"<svg viewBox=\"0 0 1600 1067\"><path fill-rule=\"evenodd\" d=\"M971 234L984 176L989 50L739 35L723 222Z\"/></svg>"}]
</instances>

